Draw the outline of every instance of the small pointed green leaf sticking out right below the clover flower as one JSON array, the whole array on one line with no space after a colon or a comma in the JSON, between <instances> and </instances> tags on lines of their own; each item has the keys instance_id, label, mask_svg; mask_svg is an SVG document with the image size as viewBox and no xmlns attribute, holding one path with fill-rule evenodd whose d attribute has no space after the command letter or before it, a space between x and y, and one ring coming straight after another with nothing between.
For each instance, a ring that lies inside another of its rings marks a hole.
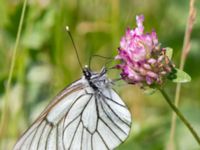
<instances>
[{"instance_id":1,"label":"small pointed green leaf sticking out right below the clover flower","mask_svg":"<svg viewBox=\"0 0 200 150\"><path fill-rule=\"evenodd\" d=\"M173 69L172 73L168 75L168 79L176 83L186 83L191 81L190 75L178 68Z\"/></svg>"}]
</instances>

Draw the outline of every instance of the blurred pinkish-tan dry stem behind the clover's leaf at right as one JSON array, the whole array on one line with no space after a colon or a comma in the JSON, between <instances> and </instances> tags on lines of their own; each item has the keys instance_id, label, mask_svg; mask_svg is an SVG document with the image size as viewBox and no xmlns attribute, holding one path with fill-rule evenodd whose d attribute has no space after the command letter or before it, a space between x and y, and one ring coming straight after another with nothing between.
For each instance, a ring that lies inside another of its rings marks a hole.
<instances>
[{"instance_id":1,"label":"blurred pinkish-tan dry stem behind the clover's leaf at right","mask_svg":"<svg viewBox=\"0 0 200 150\"><path fill-rule=\"evenodd\" d=\"M194 3L195 3L195 0L190 0L189 16L188 16L188 20L187 20L186 29L185 29L183 48L182 48L182 54L181 54L181 59L180 59L180 66L179 66L180 70L183 70L186 57L190 51L190 37L191 37L191 33L192 33L192 28L193 28L193 25L195 22L195 18L196 18L196 9L194 7ZM179 104L180 93L181 93L181 83L177 83L176 94L175 94L175 106L176 107L178 107L178 104ZM172 121L171 121L169 144L168 144L169 150L174 149L175 129L176 129L176 114L173 113Z\"/></svg>"}]
</instances>

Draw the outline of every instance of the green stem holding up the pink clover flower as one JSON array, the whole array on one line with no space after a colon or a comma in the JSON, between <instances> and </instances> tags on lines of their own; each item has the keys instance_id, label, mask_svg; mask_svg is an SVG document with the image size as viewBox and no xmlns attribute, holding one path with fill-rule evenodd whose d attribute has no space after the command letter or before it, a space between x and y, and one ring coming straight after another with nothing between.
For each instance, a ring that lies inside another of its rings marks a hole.
<instances>
[{"instance_id":1,"label":"green stem holding up the pink clover flower","mask_svg":"<svg viewBox=\"0 0 200 150\"><path fill-rule=\"evenodd\" d=\"M173 111L176 113L179 119L181 119L181 121L185 124L185 126L190 130L190 132L192 133L192 135L194 136L194 138L200 145L200 137L198 136L196 131L193 129L191 124L187 121L187 119L183 116L183 114L178 110L178 108L172 103L172 101L170 100L169 96L165 93L165 91L163 89L159 89L159 90L162 93L165 100L167 101L167 103L169 104L169 106L173 109Z\"/></svg>"}]
</instances>

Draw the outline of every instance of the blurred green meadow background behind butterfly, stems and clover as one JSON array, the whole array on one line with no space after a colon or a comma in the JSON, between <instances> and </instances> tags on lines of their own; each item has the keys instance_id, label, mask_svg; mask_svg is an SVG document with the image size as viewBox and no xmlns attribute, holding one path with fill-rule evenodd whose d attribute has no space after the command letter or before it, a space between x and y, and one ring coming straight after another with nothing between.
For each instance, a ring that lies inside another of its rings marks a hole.
<instances>
[{"instance_id":1,"label":"blurred green meadow background behind butterfly, stems and clover","mask_svg":"<svg viewBox=\"0 0 200 150\"><path fill-rule=\"evenodd\" d=\"M22 0L0 0L0 116L22 5ZM135 16L142 13L145 31L154 28L162 46L174 49L173 60L178 66L188 7L187 0L29 0L11 82L8 125L0 139L0 149L11 149L51 99L80 78L81 70L66 25L71 29L81 62L88 64L93 54L114 57L125 29L135 27ZM200 10L198 0L196 7ZM191 43L185 71L192 82L182 86L180 110L200 134L200 12ZM94 59L93 67L99 69L104 63ZM166 85L172 99L175 86ZM172 111L160 93L149 96L128 85L115 88L133 114L131 135L117 149L165 149ZM175 144L178 150L199 149L179 120Z\"/></svg>"}]
</instances>

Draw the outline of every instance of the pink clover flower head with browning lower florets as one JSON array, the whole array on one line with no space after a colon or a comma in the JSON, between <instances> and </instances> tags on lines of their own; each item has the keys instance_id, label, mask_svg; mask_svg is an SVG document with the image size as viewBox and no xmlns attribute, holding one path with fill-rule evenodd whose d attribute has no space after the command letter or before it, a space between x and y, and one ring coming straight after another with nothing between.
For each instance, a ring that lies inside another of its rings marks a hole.
<instances>
[{"instance_id":1,"label":"pink clover flower head with browning lower florets","mask_svg":"<svg viewBox=\"0 0 200 150\"><path fill-rule=\"evenodd\" d=\"M120 60L122 79L130 84L162 84L171 72L173 64L166 55L166 49L160 47L155 31L144 33L144 16L136 16L137 27L127 28L121 38L116 59Z\"/></svg>"}]
</instances>

